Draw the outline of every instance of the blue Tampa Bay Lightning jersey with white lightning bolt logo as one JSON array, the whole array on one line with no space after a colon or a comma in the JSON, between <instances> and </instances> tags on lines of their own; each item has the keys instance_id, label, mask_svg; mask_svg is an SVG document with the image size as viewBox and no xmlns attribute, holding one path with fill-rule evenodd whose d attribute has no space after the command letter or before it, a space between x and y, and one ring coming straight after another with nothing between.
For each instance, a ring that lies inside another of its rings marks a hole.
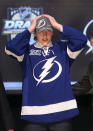
<instances>
[{"instance_id":1,"label":"blue Tampa Bay Lightning jersey with white lightning bolt logo","mask_svg":"<svg viewBox=\"0 0 93 131\"><path fill-rule=\"evenodd\" d=\"M41 48L29 45L30 32L25 30L6 45L6 53L20 61L23 72L21 118L40 123L57 122L78 115L70 84L70 65L86 44L78 30L63 26L62 38Z\"/></svg>"}]
</instances>

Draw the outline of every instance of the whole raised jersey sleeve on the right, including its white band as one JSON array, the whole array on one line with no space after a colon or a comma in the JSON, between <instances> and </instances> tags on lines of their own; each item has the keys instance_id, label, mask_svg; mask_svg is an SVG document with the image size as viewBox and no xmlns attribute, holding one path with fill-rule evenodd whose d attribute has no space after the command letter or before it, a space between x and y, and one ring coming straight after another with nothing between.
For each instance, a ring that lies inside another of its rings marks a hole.
<instances>
[{"instance_id":1,"label":"whole raised jersey sleeve on the right, including its white band","mask_svg":"<svg viewBox=\"0 0 93 131\"><path fill-rule=\"evenodd\" d=\"M63 26L61 36L66 39L64 45L69 58L69 65L75 61L87 43L87 37L79 30L72 27Z\"/></svg>"}]
</instances>

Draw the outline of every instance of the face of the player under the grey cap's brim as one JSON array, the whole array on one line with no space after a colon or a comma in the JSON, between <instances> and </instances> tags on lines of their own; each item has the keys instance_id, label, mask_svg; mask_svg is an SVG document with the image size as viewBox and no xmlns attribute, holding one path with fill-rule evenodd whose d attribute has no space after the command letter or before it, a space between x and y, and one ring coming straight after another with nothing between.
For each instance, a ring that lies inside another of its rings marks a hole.
<instances>
[{"instance_id":1,"label":"face of the player under the grey cap's brim","mask_svg":"<svg viewBox=\"0 0 93 131\"><path fill-rule=\"evenodd\" d=\"M53 32L49 30L43 30L40 33L36 33L37 41L43 46L47 46L52 39Z\"/></svg>"}]
</instances>

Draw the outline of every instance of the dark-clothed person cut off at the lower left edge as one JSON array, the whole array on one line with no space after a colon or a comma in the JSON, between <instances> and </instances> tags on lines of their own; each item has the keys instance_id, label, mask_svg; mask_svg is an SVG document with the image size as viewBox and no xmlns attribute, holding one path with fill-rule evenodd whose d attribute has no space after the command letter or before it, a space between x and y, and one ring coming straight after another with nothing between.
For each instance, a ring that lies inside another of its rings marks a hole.
<instances>
[{"instance_id":1,"label":"dark-clothed person cut off at the lower left edge","mask_svg":"<svg viewBox=\"0 0 93 131\"><path fill-rule=\"evenodd\" d=\"M1 129L2 128L2 129ZM14 131L14 119L0 74L0 130Z\"/></svg>"}]
</instances>

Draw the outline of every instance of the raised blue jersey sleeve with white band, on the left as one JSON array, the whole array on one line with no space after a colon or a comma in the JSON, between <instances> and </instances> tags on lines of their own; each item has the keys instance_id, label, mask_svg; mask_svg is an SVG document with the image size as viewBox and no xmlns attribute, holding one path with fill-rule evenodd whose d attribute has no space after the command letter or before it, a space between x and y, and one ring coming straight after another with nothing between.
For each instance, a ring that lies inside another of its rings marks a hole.
<instances>
[{"instance_id":1,"label":"raised blue jersey sleeve with white band, on the left","mask_svg":"<svg viewBox=\"0 0 93 131\"><path fill-rule=\"evenodd\" d=\"M28 30L19 33L15 38L7 42L5 52L21 61L29 45L30 36L31 33Z\"/></svg>"}]
</instances>

